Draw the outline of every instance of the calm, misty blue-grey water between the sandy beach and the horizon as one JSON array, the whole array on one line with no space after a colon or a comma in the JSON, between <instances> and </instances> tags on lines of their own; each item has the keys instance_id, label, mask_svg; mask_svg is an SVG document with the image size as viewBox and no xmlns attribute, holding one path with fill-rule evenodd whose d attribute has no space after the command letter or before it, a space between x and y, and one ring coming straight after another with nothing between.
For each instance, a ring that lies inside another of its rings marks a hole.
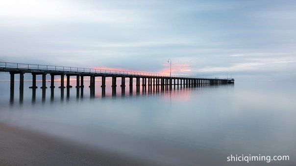
<instances>
[{"instance_id":1,"label":"calm, misty blue-grey water between the sandy beach and the horizon","mask_svg":"<svg viewBox=\"0 0 296 166\"><path fill-rule=\"evenodd\" d=\"M0 83L0 122L52 137L170 165L230 165L230 154L289 155L296 165L296 88L289 83L173 88L172 91L106 97L96 84L90 98L86 83L76 91L33 90L25 83L20 99ZM75 86L75 83L72 83ZM41 83L37 83L41 86ZM47 86L50 86L49 83ZM59 86L58 83L55 85ZM135 89L135 87L134 87ZM252 164L267 164L254 162ZM250 165L250 164L248 164Z\"/></svg>"}]
</instances>

